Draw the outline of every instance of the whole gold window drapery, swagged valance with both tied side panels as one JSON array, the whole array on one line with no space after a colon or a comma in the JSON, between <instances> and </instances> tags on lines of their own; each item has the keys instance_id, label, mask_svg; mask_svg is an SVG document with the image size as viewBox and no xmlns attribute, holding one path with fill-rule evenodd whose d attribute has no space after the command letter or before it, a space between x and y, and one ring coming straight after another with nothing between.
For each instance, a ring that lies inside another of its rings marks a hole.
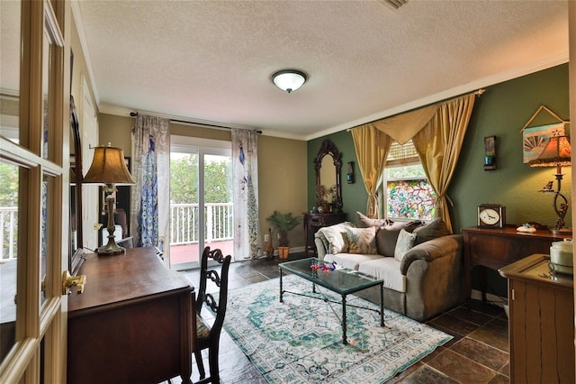
<instances>
[{"instance_id":1,"label":"whole gold window drapery, swagged valance with both tied side panels","mask_svg":"<svg viewBox=\"0 0 576 384\"><path fill-rule=\"evenodd\" d=\"M392 140L404 144L412 139L428 181L438 196L437 216L442 217L448 229L452 230L446 206L446 189L462 149L474 100L475 94L461 96L366 123L351 130L358 168L365 178L368 192L367 216L377 216L376 187L383 173ZM380 147L384 150L380 150Z\"/></svg>"}]
</instances>

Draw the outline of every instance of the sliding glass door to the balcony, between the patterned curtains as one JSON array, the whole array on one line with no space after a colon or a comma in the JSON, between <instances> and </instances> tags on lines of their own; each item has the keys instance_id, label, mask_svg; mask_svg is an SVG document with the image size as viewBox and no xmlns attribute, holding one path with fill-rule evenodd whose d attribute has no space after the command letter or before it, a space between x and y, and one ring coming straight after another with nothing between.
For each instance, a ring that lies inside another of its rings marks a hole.
<instances>
[{"instance_id":1,"label":"sliding glass door to the balcony, between the patterned curtains","mask_svg":"<svg viewBox=\"0 0 576 384\"><path fill-rule=\"evenodd\" d=\"M233 252L231 150L229 142L170 142L170 267L188 270L206 246Z\"/></svg>"}]
</instances>

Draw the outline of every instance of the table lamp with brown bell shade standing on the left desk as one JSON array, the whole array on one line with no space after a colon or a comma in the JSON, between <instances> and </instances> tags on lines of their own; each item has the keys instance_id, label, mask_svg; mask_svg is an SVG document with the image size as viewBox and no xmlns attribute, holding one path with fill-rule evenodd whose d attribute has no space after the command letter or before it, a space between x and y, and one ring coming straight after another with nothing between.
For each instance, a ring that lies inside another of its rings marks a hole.
<instances>
[{"instance_id":1,"label":"table lamp with brown bell shade standing on the left desk","mask_svg":"<svg viewBox=\"0 0 576 384\"><path fill-rule=\"evenodd\" d=\"M130 175L130 171L126 168L124 160L124 151L120 148L114 148L108 143L107 147L94 148L94 160L86 176L82 180L83 183L103 184L104 192L106 193L106 206L108 207L108 243L98 248L95 252L99 256L111 256L124 253L125 248L116 244L114 240L114 225L113 206L114 195L118 185L136 184L136 181Z\"/></svg>"}]
</instances>

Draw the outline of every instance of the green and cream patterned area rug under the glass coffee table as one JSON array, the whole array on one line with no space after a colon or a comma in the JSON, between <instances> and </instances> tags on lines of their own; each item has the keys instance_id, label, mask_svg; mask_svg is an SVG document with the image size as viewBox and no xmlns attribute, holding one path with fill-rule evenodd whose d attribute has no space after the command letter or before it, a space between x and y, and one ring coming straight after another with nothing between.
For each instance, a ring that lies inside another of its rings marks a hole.
<instances>
[{"instance_id":1,"label":"green and cream patterned area rug under the glass coffee table","mask_svg":"<svg viewBox=\"0 0 576 384\"><path fill-rule=\"evenodd\" d=\"M311 283L294 275L283 283L284 289L314 295ZM452 339L388 309L382 327L376 312L349 306L344 345L340 305L290 293L280 303L279 295L278 279L232 289L224 321L225 330L271 383L382 383ZM378 307L353 296L347 302Z\"/></svg>"}]
</instances>

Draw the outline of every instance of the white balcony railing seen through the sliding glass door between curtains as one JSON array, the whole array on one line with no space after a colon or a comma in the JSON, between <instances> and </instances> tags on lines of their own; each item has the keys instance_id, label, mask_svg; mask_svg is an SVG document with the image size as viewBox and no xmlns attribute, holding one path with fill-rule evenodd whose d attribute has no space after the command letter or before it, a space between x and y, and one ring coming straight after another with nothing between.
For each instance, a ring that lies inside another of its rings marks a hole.
<instances>
[{"instance_id":1,"label":"white balcony railing seen through the sliding glass door between curtains","mask_svg":"<svg viewBox=\"0 0 576 384\"><path fill-rule=\"evenodd\" d=\"M205 242L232 240L232 203L204 204ZM170 205L170 245L198 242L198 204Z\"/></svg>"}]
</instances>

